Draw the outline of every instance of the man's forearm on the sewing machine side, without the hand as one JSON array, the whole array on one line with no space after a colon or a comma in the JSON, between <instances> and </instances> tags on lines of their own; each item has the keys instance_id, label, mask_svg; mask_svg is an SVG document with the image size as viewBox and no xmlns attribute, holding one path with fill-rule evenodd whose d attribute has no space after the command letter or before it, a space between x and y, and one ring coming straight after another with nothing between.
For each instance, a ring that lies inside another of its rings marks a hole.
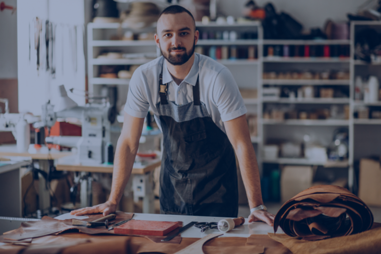
<instances>
[{"instance_id":1,"label":"man's forearm on the sewing machine side, without the hand","mask_svg":"<svg viewBox=\"0 0 381 254\"><path fill-rule=\"evenodd\" d=\"M123 137L118 139L115 151L113 183L109 201L118 204L122 198L128 179L131 176L133 162L137 153L138 145L132 146Z\"/></svg>"}]
</instances>

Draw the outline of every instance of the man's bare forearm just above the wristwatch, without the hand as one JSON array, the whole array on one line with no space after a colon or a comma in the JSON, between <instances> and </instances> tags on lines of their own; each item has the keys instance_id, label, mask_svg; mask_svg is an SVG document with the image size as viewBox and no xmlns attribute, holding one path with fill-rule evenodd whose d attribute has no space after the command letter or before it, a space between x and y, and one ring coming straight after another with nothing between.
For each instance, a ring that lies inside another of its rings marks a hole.
<instances>
[{"instance_id":1,"label":"man's bare forearm just above the wristwatch, without the hand","mask_svg":"<svg viewBox=\"0 0 381 254\"><path fill-rule=\"evenodd\" d=\"M262 193L260 191L258 163L256 161L253 144L244 142L237 145L236 154L250 208L263 204Z\"/></svg>"}]
</instances>

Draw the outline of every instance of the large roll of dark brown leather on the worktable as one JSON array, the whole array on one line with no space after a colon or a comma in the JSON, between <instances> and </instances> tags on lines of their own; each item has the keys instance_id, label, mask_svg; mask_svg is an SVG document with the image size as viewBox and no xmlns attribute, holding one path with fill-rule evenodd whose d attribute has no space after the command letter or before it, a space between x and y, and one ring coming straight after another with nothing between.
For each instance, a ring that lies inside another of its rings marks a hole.
<instances>
[{"instance_id":1,"label":"large roll of dark brown leather on the worktable","mask_svg":"<svg viewBox=\"0 0 381 254\"><path fill-rule=\"evenodd\" d=\"M275 215L285 234L304 240L347 236L368 230L373 225L369 207L350 191L320 185L300 192L285 202Z\"/></svg>"}]
</instances>

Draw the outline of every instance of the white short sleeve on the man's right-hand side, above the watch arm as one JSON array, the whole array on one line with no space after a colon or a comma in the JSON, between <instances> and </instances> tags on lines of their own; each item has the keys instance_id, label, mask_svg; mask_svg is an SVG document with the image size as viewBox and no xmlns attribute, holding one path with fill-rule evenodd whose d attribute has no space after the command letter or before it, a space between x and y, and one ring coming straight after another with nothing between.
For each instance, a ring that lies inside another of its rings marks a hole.
<instances>
[{"instance_id":1,"label":"white short sleeve on the man's right-hand side, above the watch arm","mask_svg":"<svg viewBox=\"0 0 381 254\"><path fill-rule=\"evenodd\" d=\"M221 115L221 120L227 122L247 113L244 99L228 68L223 68L216 77L213 86L213 101Z\"/></svg>"}]
</instances>

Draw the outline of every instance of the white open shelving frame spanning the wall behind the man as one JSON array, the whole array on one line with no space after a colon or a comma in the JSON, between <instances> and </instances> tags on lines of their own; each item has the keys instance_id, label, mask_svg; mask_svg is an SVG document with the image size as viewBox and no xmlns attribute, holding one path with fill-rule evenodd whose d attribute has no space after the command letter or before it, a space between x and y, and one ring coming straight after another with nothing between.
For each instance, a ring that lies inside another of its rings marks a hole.
<instances>
[{"instance_id":1,"label":"white open shelving frame spanning the wall behind the man","mask_svg":"<svg viewBox=\"0 0 381 254\"><path fill-rule=\"evenodd\" d=\"M356 21L351 22L351 38L350 40L264 40L263 31L260 22L248 22L248 23L235 23L235 24L217 24L211 22L204 25L200 22L196 22L196 27L198 30L207 31L256 31L256 39L237 39L237 40L216 40L216 39L200 39L196 46L202 46L208 48L210 46L255 46L257 52L257 58L254 60L247 59L225 59L217 60L219 63L227 66L233 73L236 74L235 78L237 80L238 86L245 89L256 89L257 98L244 99L247 108L252 113L257 116L257 132L258 136L252 136L251 140L256 147L257 159L259 168L262 169L263 163L272 164L290 164L290 165L317 165L329 168L348 168L348 185L351 189L353 187L353 162L355 159L354 154L354 139L355 139L355 126L377 126L381 125L381 120L375 119L354 119L353 113L355 107L358 106L381 106L381 102L375 104L365 104L362 101L354 100L354 78L357 68L364 68L364 66L381 66L380 63L368 64L363 61L354 59L354 34L356 26L380 26L381 22L369 22L369 21ZM96 29L105 32L109 29L128 29L127 25L119 23L106 23L106 24L88 24L88 75L89 75L89 92L94 91L94 85L128 85L129 79L119 79L119 78L100 78L97 77L96 71L94 70L100 65L140 65L149 62L146 59L98 59L97 54L100 52L100 48L111 50L113 48L117 50L128 49L131 52L157 52L157 56L160 55L160 51L156 49L156 44L154 41L115 41L115 40L101 40L99 36L94 37L93 31ZM141 32L149 32L154 27L146 28ZM241 30L240 30L241 29ZM136 32L136 31L134 31ZM200 36L201 38L201 36ZM304 58L304 57L263 57L263 47L269 45L346 45L350 47L350 57L349 58ZM306 69L311 66L311 68L316 68L321 70L325 66L329 65L329 68L347 68L349 69L349 79L263 79L263 70L271 67L278 67L281 71L284 71L288 66L292 68ZM333 66L333 67L332 67ZM248 70L248 71L244 71ZM237 74L238 73L238 74ZM251 77L254 75L256 77ZM245 82L243 80L246 80ZM248 80L250 82L248 83ZM263 86L316 86L316 87L337 87L337 88L348 88L349 97L348 98L312 98L312 99L289 99L289 98L279 98L277 100L269 100L262 97ZM349 119L346 120L284 120L276 121L272 119L262 119L263 109L267 104L284 104L286 106L306 106L306 107L329 107L331 105L338 106L349 106ZM279 128L279 132L282 132L283 128L292 127L295 128L297 132L298 129L305 128L328 128L332 131L334 127L348 127L349 129L349 158L344 162L331 162L327 163L314 162L308 159L288 159L279 158L277 160L263 160L263 146L267 142L266 129L267 128ZM261 171L262 173L262 171Z\"/></svg>"}]
</instances>

